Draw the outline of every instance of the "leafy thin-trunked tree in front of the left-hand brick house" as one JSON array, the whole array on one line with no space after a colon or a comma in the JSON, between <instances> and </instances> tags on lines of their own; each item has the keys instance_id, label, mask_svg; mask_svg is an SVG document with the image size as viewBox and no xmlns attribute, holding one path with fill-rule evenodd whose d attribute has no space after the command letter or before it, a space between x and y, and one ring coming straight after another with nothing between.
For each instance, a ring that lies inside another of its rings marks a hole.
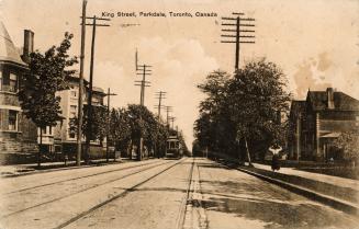
<instances>
[{"instance_id":1,"label":"leafy thin-trunked tree in front of the left-hand brick house","mask_svg":"<svg viewBox=\"0 0 359 229\"><path fill-rule=\"evenodd\" d=\"M67 78L75 73L69 67L77 64L76 57L69 57L72 34L65 33L59 46L53 46L44 54L36 50L30 54L29 72L23 76L19 99L27 118L41 129L37 165L41 165L42 130L55 126L61 121L60 98L57 91L69 89Z\"/></svg>"}]
</instances>

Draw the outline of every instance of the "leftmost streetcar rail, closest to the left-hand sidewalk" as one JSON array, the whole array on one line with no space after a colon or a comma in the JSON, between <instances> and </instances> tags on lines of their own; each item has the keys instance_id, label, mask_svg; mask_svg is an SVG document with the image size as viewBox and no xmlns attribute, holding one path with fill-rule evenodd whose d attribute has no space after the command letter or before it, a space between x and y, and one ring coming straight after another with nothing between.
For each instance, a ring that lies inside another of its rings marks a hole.
<instances>
[{"instance_id":1,"label":"leftmost streetcar rail, closest to the left-hand sidewalk","mask_svg":"<svg viewBox=\"0 0 359 229\"><path fill-rule=\"evenodd\" d=\"M109 170L109 171L93 173L93 174L89 174L89 175L82 175L82 176L78 176L78 178L74 178L74 179L66 179L66 180L61 180L61 181L51 182L51 183L46 183L46 184L41 184L41 185L35 185L35 186L31 186L31 187L25 187L25 188L8 192L8 193L4 193L2 195L21 193L21 192L24 192L24 191L35 190L35 188L38 188L38 187L49 186L49 185L54 185L54 184L60 184L60 183L68 182L68 181L76 181L76 180L80 180L80 179L92 178L92 176L108 174L108 173L112 173L112 172L119 172L119 171L128 170L128 169L133 169L133 168L141 168L141 167L154 164L154 163L157 163L157 162L159 162L159 161L145 163L145 164L135 164L135 165L132 165L132 167L120 168L120 169L116 169L116 170Z\"/></svg>"}]
</instances>

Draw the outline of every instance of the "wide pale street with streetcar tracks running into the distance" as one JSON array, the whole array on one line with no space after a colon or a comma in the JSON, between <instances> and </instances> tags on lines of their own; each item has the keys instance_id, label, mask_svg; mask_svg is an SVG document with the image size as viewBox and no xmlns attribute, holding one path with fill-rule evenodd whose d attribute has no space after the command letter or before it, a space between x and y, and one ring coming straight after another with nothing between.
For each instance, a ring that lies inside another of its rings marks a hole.
<instances>
[{"instance_id":1,"label":"wide pale street with streetcar tracks running into the distance","mask_svg":"<svg viewBox=\"0 0 359 229\"><path fill-rule=\"evenodd\" d=\"M356 217L202 158L1 180L1 228L359 228Z\"/></svg>"}]
</instances>

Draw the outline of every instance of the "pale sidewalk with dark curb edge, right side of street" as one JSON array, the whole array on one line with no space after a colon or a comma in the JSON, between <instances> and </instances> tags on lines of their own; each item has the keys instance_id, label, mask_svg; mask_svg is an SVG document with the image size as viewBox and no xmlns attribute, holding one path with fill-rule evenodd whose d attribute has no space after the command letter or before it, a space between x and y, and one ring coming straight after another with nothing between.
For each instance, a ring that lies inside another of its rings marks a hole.
<instances>
[{"instance_id":1,"label":"pale sidewalk with dark curb edge, right side of street","mask_svg":"<svg viewBox=\"0 0 359 229\"><path fill-rule=\"evenodd\" d=\"M273 172L270 165L259 163L254 163L253 168L238 167L237 159L221 156L220 162L232 169L255 175L346 213L359 214L359 181L357 180L300 171L295 168L281 168Z\"/></svg>"}]
</instances>

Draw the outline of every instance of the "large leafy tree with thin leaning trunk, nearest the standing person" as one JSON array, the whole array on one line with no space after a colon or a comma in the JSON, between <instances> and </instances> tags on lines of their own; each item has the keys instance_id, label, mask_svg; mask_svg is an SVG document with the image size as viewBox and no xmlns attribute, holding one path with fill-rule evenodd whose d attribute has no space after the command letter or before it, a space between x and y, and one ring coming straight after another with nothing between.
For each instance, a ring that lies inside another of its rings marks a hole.
<instances>
[{"instance_id":1,"label":"large leafy tree with thin leaning trunk, nearest the standing person","mask_svg":"<svg viewBox=\"0 0 359 229\"><path fill-rule=\"evenodd\" d=\"M248 142L270 139L267 142L279 144L283 135L279 114L289 110L285 83L282 70L265 59L248 62L228 83L228 107L236 124L236 138L243 139L249 164Z\"/></svg>"}]
</instances>

